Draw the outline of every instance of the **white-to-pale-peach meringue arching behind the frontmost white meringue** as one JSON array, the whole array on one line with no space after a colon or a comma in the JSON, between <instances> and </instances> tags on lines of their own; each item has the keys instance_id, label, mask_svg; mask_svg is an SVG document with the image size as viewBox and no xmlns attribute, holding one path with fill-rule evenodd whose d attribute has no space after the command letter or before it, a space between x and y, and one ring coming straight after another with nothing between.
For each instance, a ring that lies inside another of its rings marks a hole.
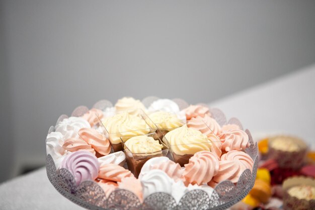
<instances>
[{"instance_id":1,"label":"white-to-pale-peach meringue arching behind the frontmost white meringue","mask_svg":"<svg viewBox=\"0 0 315 210\"><path fill-rule=\"evenodd\" d=\"M167 157L155 157L145 162L141 168L139 178L152 169L160 169L164 171L175 181L178 181L183 177L183 170L178 163L171 161Z\"/></svg>"}]
</instances>

